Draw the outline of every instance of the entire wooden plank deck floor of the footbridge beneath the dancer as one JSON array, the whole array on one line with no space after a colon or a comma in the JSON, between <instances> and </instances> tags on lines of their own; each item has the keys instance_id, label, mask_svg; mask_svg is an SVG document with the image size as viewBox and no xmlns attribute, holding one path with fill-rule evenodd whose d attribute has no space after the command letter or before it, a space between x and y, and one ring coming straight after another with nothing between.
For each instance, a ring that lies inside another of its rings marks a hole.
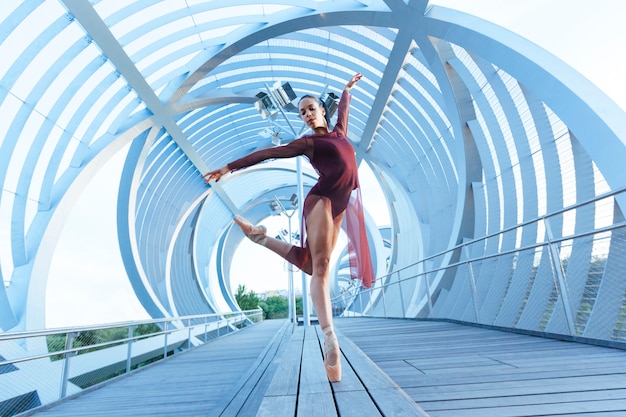
<instances>
[{"instance_id":1,"label":"entire wooden plank deck floor of the footbridge beneath the dancer","mask_svg":"<svg viewBox=\"0 0 626 417\"><path fill-rule=\"evenodd\" d=\"M317 326L265 321L29 415L626 416L623 350L432 321L336 327L338 383Z\"/></svg>"}]
</instances>

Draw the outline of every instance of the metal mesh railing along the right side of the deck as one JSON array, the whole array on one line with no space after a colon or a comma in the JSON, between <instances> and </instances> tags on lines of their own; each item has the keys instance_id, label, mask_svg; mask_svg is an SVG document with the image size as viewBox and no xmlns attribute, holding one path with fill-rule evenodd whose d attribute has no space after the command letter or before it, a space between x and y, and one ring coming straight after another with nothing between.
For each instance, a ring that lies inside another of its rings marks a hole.
<instances>
[{"instance_id":1,"label":"metal mesh railing along the right side of the deck","mask_svg":"<svg viewBox=\"0 0 626 417\"><path fill-rule=\"evenodd\" d=\"M346 317L439 318L626 342L626 222L606 193L333 298ZM528 236L534 234L530 240Z\"/></svg>"}]
</instances>

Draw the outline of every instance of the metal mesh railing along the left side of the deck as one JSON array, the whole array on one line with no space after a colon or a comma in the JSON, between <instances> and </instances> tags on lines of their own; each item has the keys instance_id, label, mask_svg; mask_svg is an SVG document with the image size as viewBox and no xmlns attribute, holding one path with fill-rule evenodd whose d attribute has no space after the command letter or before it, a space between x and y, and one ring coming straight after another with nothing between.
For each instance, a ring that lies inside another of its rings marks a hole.
<instances>
[{"instance_id":1,"label":"metal mesh railing along the left side of the deck","mask_svg":"<svg viewBox=\"0 0 626 417\"><path fill-rule=\"evenodd\" d=\"M263 320L259 308L0 334L0 416L13 416Z\"/></svg>"}]
</instances>

